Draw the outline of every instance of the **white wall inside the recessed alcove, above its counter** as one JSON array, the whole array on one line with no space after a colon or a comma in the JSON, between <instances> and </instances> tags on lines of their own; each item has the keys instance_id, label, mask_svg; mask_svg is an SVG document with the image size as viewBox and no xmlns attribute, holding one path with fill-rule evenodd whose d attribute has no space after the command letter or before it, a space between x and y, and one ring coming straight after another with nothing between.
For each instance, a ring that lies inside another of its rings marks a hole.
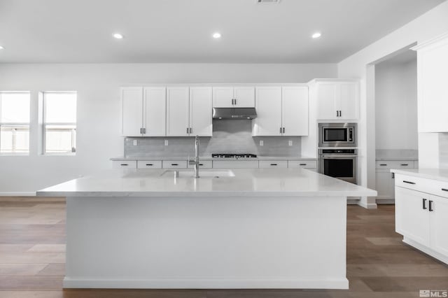
<instances>
[{"instance_id":1,"label":"white wall inside the recessed alcove, above its counter","mask_svg":"<svg viewBox=\"0 0 448 298\"><path fill-rule=\"evenodd\" d=\"M417 150L417 65L381 62L375 66L377 149Z\"/></svg>"}]
</instances>

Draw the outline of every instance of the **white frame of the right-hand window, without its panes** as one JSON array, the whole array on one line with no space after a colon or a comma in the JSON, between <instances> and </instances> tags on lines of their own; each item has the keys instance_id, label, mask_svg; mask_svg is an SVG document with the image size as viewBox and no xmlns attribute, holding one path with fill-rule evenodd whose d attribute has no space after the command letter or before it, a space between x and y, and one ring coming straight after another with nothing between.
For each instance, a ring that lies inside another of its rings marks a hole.
<instances>
[{"instance_id":1,"label":"white frame of the right-hand window, without its panes","mask_svg":"<svg viewBox=\"0 0 448 298\"><path fill-rule=\"evenodd\" d=\"M60 125L60 126L74 126L74 136L73 136L73 132L71 134L71 144L73 145L73 142L76 144L76 139L77 139L77 132L76 130L78 129L78 92L76 91L43 91L42 93L42 155L56 155L56 156L75 156L76 152L78 151L77 146L75 146L75 152L73 151L66 151L66 152L47 152L47 144L46 144L46 139L47 139L47 126L50 125ZM45 94L75 94L76 95L76 122L46 122L46 100L45 100ZM73 130L73 129L72 129ZM73 146L72 146L73 148Z\"/></svg>"}]
</instances>

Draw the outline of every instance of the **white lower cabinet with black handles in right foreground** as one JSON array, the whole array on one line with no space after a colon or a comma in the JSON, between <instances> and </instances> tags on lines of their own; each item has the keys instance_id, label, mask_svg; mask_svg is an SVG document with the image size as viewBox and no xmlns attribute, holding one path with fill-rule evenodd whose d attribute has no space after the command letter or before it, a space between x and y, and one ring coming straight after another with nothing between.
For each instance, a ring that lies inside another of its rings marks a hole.
<instances>
[{"instance_id":1,"label":"white lower cabinet with black handles in right foreground","mask_svg":"<svg viewBox=\"0 0 448 298\"><path fill-rule=\"evenodd\" d=\"M447 197L434 194L447 183L403 175L395 180L396 232L409 245L448 264L448 192Z\"/></svg>"}]
</instances>

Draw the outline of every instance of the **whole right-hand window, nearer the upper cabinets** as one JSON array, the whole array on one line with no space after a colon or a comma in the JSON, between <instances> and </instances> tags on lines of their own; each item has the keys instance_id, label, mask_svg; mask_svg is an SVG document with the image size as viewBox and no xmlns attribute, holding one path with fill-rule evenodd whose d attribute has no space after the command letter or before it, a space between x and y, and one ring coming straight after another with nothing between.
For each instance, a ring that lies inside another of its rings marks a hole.
<instances>
[{"instance_id":1,"label":"whole right-hand window, nearer the upper cabinets","mask_svg":"<svg viewBox=\"0 0 448 298\"><path fill-rule=\"evenodd\" d=\"M76 92L43 93L43 152L76 152Z\"/></svg>"}]
</instances>

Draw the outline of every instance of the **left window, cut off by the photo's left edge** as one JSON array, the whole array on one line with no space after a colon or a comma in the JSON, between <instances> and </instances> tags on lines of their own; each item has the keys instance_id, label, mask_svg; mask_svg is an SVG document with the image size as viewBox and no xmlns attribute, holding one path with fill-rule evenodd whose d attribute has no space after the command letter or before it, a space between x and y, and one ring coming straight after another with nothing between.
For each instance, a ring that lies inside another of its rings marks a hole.
<instances>
[{"instance_id":1,"label":"left window, cut off by the photo's left edge","mask_svg":"<svg viewBox=\"0 0 448 298\"><path fill-rule=\"evenodd\" d=\"M29 153L29 92L0 92L0 153Z\"/></svg>"}]
</instances>

